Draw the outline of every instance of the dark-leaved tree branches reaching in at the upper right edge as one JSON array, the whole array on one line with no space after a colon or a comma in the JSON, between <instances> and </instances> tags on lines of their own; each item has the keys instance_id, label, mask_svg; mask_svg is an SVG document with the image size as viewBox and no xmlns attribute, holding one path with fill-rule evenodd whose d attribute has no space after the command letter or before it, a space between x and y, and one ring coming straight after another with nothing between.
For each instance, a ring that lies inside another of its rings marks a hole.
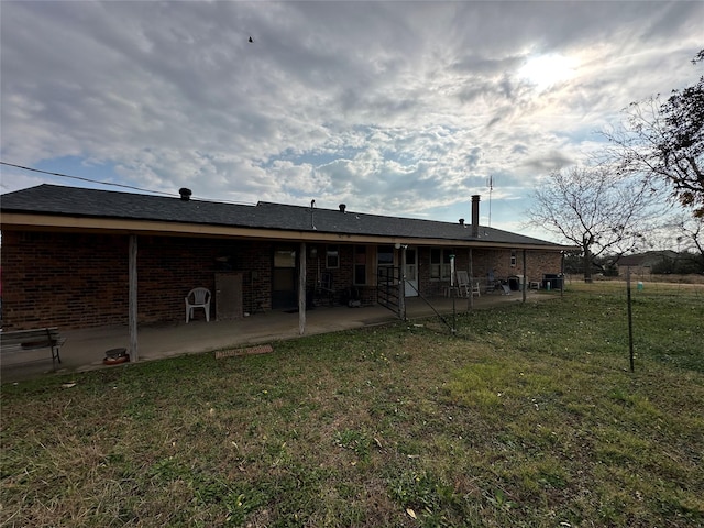
<instances>
[{"instance_id":1,"label":"dark-leaved tree branches reaching in at the upper right edge","mask_svg":"<svg viewBox=\"0 0 704 528\"><path fill-rule=\"evenodd\" d=\"M692 63L704 61L704 50ZM704 76L667 101L634 102L620 128L605 132L623 172L668 182L680 204L704 217Z\"/></svg>"}]
</instances>

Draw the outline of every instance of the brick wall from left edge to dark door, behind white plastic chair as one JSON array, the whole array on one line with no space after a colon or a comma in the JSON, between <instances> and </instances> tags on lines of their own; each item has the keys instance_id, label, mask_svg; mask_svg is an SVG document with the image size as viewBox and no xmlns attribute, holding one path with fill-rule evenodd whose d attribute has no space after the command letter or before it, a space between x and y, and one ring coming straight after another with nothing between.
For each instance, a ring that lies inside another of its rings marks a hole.
<instances>
[{"instance_id":1,"label":"brick wall from left edge to dark door, behind white plastic chair","mask_svg":"<svg viewBox=\"0 0 704 528\"><path fill-rule=\"evenodd\" d=\"M128 235L4 230L1 256L3 328L127 324ZM271 244L139 237L139 322L182 321L184 297L196 286L215 294L219 270L243 272L244 311L271 309Z\"/></svg>"}]
</instances>

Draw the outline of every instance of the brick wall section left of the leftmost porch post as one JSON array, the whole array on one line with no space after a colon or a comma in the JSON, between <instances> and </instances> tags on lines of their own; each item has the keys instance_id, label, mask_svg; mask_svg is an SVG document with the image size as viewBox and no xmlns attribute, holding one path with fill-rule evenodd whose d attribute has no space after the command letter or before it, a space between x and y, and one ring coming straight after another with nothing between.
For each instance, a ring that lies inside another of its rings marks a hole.
<instances>
[{"instance_id":1,"label":"brick wall section left of the leftmost porch post","mask_svg":"<svg viewBox=\"0 0 704 528\"><path fill-rule=\"evenodd\" d=\"M128 238L2 232L6 329L127 323Z\"/></svg>"}]
</instances>

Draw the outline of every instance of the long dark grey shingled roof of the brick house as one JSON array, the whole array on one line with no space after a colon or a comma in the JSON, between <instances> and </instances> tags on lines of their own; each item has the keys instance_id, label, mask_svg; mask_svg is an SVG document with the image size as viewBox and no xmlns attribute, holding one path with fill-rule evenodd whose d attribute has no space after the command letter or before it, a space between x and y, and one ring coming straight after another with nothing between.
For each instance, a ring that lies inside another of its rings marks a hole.
<instances>
[{"instance_id":1,"label":"long dark grey shingled roof of the brick house","mask_svg":"<svg viewBox=\"0 0 704 528\"><path fill-rule=\"evenodd\" d=\"M480 226L472 237L469 224L413 218L367 215L339 209L318 209L258 202L256 206L132 193L116 193L78 187L40 185L8 193L0 198L2 212L52 215L76 218L151 220L230 228L272 229L283 231L333 233L349 235L436 239L457 242L539 245L562 249L560 244Z\"/></svg>"}]
</instances>

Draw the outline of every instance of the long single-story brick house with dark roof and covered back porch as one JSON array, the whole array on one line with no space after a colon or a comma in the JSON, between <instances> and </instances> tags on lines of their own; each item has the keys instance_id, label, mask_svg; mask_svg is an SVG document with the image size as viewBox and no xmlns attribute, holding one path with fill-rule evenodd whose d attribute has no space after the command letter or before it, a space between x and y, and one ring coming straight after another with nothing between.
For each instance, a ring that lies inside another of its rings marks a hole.
<instances>
[{"instance_id":1,"label":"long single-story brick house with dark roof and covered back porch","mask_svg":"<svg viewBox=\"0 0 704 528\"><path fill-rule=\"evenodd\" d=\"M571 249L480 226L479 196L471 223L450 223L182 190L178 199L41 185L3 195L4 328L182 321L196 286L215 293L215 317L226 304L234 317L375 304L383 277L398 284L402 271L406 296L430 297L450 284L451 261L482 284L527 284L560 273Z\"/></svg>"}]
</instances>

